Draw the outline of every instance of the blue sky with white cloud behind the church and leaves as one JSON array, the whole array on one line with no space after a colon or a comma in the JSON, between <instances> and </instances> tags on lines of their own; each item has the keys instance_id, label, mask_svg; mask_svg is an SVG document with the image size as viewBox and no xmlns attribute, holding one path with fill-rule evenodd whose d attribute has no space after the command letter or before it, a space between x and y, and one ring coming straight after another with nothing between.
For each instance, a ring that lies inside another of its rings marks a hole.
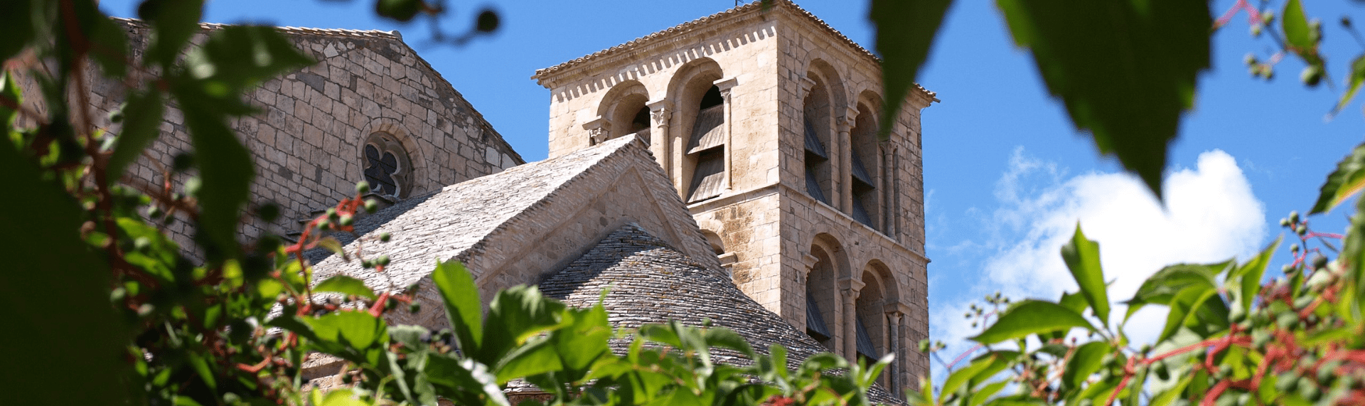
<instances>
[{"instance_id":1,"label":"blue sky with white cloud behind the church and leaves","mask_svg":"<svg viewBox=\"0 0 1365 406\"><path fill-rule=\"evenodd\" d=\"M550 94L530 79L536 68L733 7L730 0L450 3L448 31L465 30L483 7L501 14L502 27L464 46L431 45L427 22L379 21L369 0L212 0L205 21L401 30L521 156L541 160ZM1211 10L1218 16L1233 3L1216 0ZM1058 247L1078 220L1100 242L1118 297L1164 264L1245 258L1279 236L1278 220L1309 208L1327 172L1365 134L1360 103L1325 119L1345 67L1365 49L1336 23L1361 11L1346 3L1308 3L1308 14L1325 21L1335 89L1304 87L1302 63L1293 59L1278 66L1272 82L1250 78L1244 55L1265 59L1272 42L1249 36L1245 14L1213 34L1213 67L1201 75L1197 105L1171 150L1170 200L1162 208L1076 133L1031 56L1013 46L992 1L957 1L920 77L942 100L923 119L931 334L960 350L971 332L962 309L973 298L1073 288ZM872 48L865 1L800 4ZM135 14L130 0L101 7ZM1340 231L1347 215L1313 217L1314 228ZM1272 268L1287 257L1282 250ZM1141 324L1134 323L1138 334Z\"/></svg>"}]
</instances>

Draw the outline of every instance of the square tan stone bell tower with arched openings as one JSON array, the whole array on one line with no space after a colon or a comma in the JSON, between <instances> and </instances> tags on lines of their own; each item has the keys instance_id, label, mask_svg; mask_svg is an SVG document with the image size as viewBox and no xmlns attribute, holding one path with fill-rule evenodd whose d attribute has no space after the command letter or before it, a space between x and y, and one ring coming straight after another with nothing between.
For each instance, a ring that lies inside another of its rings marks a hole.
<instances>
[{"instance_id":1,"label":"square tan stone bell tower with arched openings","mask_svg":"<svg viewBox=\"0 0 1365 406\"><path fill-rule=\"evenodd\" d=\"M790 1L736 7L536 71L550 156L640 137L734 284L841 355L928 357L916 87L879 122L880 62ZM889 126L889 139L878 139Z\"/></svg>"}]
</instances>

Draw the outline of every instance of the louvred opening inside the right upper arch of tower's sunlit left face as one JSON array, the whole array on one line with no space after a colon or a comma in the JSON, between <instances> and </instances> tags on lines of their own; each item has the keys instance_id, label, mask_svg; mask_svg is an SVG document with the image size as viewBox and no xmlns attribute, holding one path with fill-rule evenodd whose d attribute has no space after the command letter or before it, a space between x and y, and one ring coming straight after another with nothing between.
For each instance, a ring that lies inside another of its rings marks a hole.
<instances>
[{"instance_id":1,"label":"louvred opening inside the right upper arch of tower's sunlit left face","mask_svg":"<svg viewBox=\"0 0 1365 406\"><path fill-rule=\"evenodd\" d=\"M687 154L696 161L688 186L688 202L703 201L725 191L725 98L711 86L698 103L696 120L688 138Z\"/></svg>"}]
</instances>

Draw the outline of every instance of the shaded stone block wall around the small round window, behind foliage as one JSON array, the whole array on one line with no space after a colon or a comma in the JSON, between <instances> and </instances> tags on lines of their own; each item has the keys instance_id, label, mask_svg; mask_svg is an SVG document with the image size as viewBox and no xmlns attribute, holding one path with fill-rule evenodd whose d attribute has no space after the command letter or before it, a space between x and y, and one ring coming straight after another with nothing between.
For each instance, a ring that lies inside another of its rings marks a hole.
<instances>
[{"instance_id":1,"label":"shaded stone block wall around the small round window, behind foliage","mask_svg":"<svg viewBox=\"0 0 1365 406\"><path fill-rule=\"evenodd\" d=\"M134 57L141 59L147 29L136 21L126 23ZM216 27L205 25L207 31ZM524 163L396 31L296 27L280 31L318 63L263 82L247 94L259 113L231 123L257 163L251 201L281 206L281 216L273 224L248 216L243 236L295 232L302 227L299 220L314 211L354 195L355 183L364 179L363 142L374 133L392 134L408 153L412 163L408 195ZM201 34L195 42L202 44L203 38ZM117 133L119 126L111 124L106 113L123 101L124 87L96 81L93 93L96 124ZM31 96L29 101L41 105ZM161 168L190 150L176 105L168 105L164 118L161 137L128 168L128 176L160 185ZM188 246L192 230L184 217L180 220L167 230Z\"/></svg>"}]
</instances>

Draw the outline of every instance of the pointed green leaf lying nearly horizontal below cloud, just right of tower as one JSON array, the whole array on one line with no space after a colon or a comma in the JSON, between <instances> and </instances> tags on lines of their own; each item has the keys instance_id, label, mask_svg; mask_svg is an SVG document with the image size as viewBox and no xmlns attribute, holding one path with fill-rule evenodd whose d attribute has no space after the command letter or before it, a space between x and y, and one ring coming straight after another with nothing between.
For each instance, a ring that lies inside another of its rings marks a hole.
<instances>
[{"instance_id":1,"label":"pointed green leaf lying nearly horizontal below cloud, just right of tower","mask_svg":"<svg viewBox=\"0 0 1365 406\"><path fill-rule=\"evenodd\" d=\"M1028 299L1006 309L995 324L971 339L983 344L994 344L1036 332L1065 331L1074 327L1095 329L1081 313L1058 303Z\"/></svg>"}]
</instances>

